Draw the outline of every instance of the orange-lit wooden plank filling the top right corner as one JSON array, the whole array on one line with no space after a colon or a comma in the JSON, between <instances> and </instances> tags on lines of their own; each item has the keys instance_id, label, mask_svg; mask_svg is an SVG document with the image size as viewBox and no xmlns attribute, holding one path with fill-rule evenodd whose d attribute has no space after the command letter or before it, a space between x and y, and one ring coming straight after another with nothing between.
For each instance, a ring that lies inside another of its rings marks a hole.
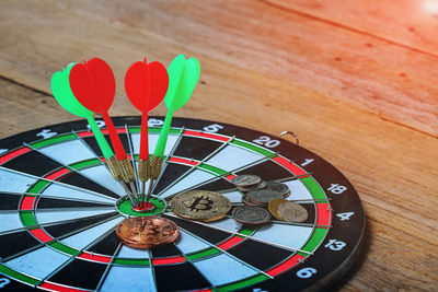
<instances>
[{"instance_id":1,"label":"orange-lit wooden plank filling the top right corner","mask_svg":"<svg viewBox=\"0 0 438 292\"><path fill-rule=\"evenodd\" d=\"M438 55L436 0L262 1L345 30L405 46L420 54Z\"/></svg>"}]
</instances>

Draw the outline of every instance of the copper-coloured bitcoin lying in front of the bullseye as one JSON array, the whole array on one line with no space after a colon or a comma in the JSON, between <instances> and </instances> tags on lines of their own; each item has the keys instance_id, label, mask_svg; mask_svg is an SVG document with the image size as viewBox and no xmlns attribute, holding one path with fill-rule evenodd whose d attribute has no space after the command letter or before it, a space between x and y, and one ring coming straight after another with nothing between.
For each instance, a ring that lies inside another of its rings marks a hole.
<instances>
[{"instance_id":1,"label":"copper-coloured bitcoin lying in front of the bullseye","mask_svg":"<svg viewBox=\"0 0 438 292\"><path fill-rule=\"evenodd\" d=\"M172 220L148 215L122 221L117 224L116 234L127 246L146 249L174 242L180 231Z\"/></svg>"}]
</instances>

